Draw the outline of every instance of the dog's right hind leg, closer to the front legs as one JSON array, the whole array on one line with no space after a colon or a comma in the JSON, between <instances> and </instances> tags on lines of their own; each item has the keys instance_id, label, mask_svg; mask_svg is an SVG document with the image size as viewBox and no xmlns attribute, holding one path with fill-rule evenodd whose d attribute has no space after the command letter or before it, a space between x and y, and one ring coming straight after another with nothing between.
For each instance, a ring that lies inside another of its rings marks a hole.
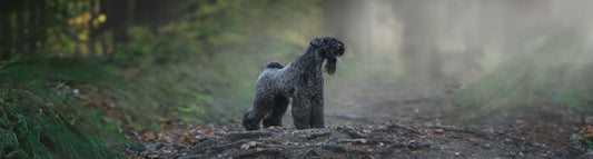
<instances>
[{"instance_id":1,"label":"dog's right hind leg, closer to the front legs","mask_svg":"<svg viewBox=\"0 0 593 159\"><path fill-rule=\"evenodd\" d=\"M266 118L264 118L264 127L281 126L286 108L288 108L288 98L284 96L276 97L274 99L271 111L269 111L268 115L266 115Z\"/></svg>"}]
</instances>

